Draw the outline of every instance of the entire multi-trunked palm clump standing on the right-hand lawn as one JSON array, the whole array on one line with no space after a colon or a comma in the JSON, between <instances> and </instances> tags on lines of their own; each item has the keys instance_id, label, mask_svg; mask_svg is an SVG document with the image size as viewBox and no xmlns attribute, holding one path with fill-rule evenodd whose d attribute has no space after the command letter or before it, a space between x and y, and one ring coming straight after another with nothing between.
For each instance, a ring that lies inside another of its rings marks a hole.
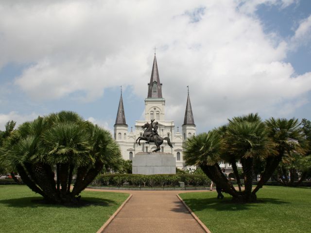
<instances>
[{"instance_id":1,"label":"entire multi-trunked palm clump standing on the right-hand lawn","mask_svg":"<svg viewBox=\"0 0 311 233\"><path fill-rule=\"evenodd\" d=\"M301 146L305 140L304 134L300 123L294 118L271 117L262 121L258 114L249 114L228 121L222 127L187 139L184 159L187 165L200 166L233 200L256 201L257 191L270 179L283 157L293 152L305 153ZM232 166L239 190L222 173L220 161ZM244 190L236 166L238 161L242 164ZM262 167L261 178L253 190L254 174L259 167Z\"/></svg>"}]
</instances>

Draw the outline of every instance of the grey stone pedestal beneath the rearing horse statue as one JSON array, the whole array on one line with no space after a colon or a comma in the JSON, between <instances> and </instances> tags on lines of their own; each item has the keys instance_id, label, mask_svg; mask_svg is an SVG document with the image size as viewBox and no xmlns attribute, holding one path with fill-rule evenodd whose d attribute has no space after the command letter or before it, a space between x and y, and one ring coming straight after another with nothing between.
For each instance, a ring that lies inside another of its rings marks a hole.
<instances>
[{"instance_id":1,"label":"grey stone pedestal beneath the rearing horse statue","mask_svg":"<svg viewBox=\"0 0 311 233\"><path fill-rule=\"evenodd\" d=\"M132 173L142 175L176 174L176 161L171 153L138 152L132 161Z\"/></svg>"}]
</instances>

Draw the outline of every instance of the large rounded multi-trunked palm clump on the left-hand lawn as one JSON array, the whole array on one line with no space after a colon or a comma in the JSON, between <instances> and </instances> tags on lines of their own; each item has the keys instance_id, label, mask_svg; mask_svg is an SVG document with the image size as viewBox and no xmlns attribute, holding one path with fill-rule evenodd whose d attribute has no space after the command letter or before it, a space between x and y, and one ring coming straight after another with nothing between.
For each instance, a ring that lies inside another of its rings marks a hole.
<instances>
[{"instance_id":1,"label":"large rounded multi-trunked palm clump on the left-hand lawn","mask_svg":"<svg viewBox=\"0 0 311 233\"><path fill-rule=\"evenodd\" d=\"M77 202L105 164L121 166L111 134L68 111L23 123L2 150L0 162L16 168L25 184L52 203ZM74 170L77 179L70 192Z\"/></svg>"}]
</instances>

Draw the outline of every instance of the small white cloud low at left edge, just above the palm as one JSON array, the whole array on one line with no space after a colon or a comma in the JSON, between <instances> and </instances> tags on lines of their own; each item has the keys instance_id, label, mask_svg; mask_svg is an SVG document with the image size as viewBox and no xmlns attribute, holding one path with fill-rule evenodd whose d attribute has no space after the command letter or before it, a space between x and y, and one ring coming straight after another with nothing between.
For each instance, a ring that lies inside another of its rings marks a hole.
<instances>
[{"instance_id":1,"label":"small white cloud low at left edge, just above the palm","mask_svg":"<svg viewBox=\"0 0 311 233\"><path fill-rule=\"evenodd\" d=\"M21 115L18 112L12 111L8 114L1 114L0 113L0 130L4 131L5 130L5 124L8 121L16 121L16 127L25 121L29 120L34 120L36 117L38 117L38 114L36 113L31 113L29 115Z\"/></svg>"}]
</instances>

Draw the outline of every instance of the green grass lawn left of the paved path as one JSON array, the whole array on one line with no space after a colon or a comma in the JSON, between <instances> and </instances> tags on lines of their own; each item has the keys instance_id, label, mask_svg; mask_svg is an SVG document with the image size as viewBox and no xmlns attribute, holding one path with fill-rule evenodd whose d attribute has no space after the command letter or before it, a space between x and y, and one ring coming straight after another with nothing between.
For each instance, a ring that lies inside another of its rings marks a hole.
<instances>
[{"instance_id":1,"label":"green grass lawn left of the paved path","mask_svg":"<svg viewBox=\"0 0 311 233\"><path fill-rule=\"evenodd\" d=\"M90 205L41 204L42 197L24 185L0 185L0 233L95 233L129 194L82 193Z\"/></svg>"}]
</instances>

